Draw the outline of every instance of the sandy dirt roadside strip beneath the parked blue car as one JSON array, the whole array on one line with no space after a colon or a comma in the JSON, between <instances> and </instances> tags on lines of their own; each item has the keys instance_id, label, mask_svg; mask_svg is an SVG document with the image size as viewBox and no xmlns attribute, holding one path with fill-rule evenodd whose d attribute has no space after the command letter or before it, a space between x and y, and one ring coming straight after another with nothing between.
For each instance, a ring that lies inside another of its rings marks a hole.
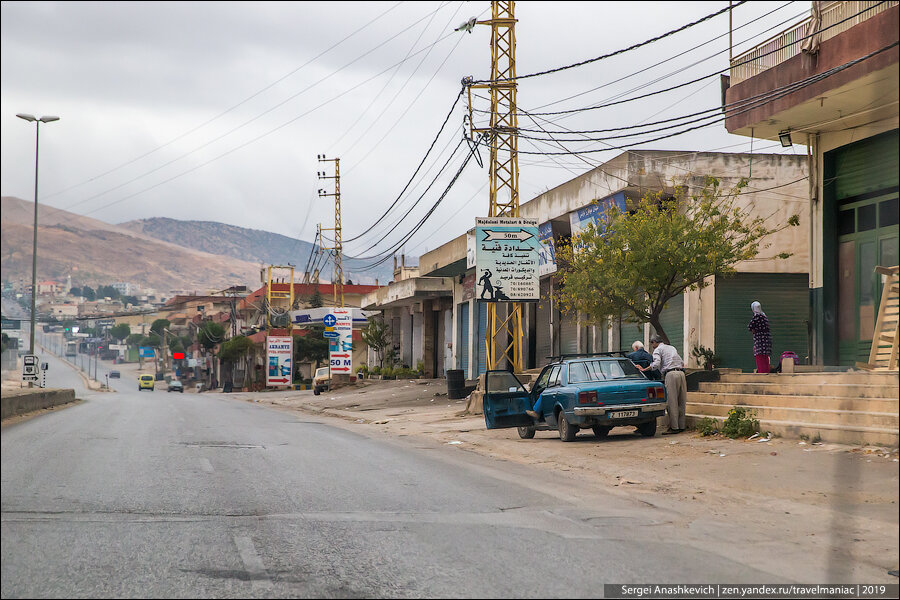
<instances>
[{"instance_id":1,"label":"sandy dirt roadside strip beneath the parked blue car","mask_svg":"<svg viewBox=\"0 0 900 600\"><path fill-rule=\"evenodd\" d=\"M465 400L449 400L446 390L444 380L361 381L320 396L310 391L233 396L337 417L340 426L351 429L428 438L563 472L586 486L670 508L683 527L725 522L745 536L737 541L766 543L778 536L800 553L808 544L824 542L883 573L897 569L897 449L730 440L696 432L644 438L633 427L616 428L605 440L590 431L580 432L573 443L561 442L552 431L523 440L515 429L486 430L483 416L464 415Z\"/></svg>"}]
</instances>

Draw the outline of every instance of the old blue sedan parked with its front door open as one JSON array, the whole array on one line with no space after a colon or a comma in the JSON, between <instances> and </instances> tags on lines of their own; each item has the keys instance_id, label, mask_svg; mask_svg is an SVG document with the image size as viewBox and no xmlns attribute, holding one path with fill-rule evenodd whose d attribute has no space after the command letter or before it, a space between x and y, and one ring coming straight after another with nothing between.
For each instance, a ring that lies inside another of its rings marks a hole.
<instances>
[{"instance_id":1,"label":"old blue sedan parked with its front door open","mask_svg":"<svg viewBox=\"0 0 900 600\"><path fill-rule=\"evenodd\" d=\"M563 357L544 367L531 391L509 371L488 371L484 389L487 428L517 427L526 439L538 430L557 429L562 441L571 442L587 428L602 438L619 426L652 437L657 417L666 412L662 383L617 356ZM526 413L532 408L537 419Z\"/></svg>"}]
</instances>

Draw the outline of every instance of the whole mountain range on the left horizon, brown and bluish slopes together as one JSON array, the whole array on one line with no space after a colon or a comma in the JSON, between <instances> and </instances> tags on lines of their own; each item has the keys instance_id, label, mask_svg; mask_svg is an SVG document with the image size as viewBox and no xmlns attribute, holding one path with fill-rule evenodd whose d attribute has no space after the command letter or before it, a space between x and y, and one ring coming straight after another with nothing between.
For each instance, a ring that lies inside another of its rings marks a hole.
<instances>
[{"instance_id":1,"label":"whole mountain range on the left horizon, brown and bluish slopes together","mask_svg":"<svg viewBox=\"0 0 900 600\"><path fill-rule=\"evenodd\" d=\"M31 281L34 203L0 198L0 277ZM158 291L206 293L232 285L260 285L261 265L293 264L303 277L312 244L287 236L212 221L156 218L114 225L41 204L38 215L38 279L107 285L118 281ZM330 262L320 266L329 281ZM344 278L387 283L391 263L357 272L360 261L344 259Z\"/></svg>"}]
</instances>

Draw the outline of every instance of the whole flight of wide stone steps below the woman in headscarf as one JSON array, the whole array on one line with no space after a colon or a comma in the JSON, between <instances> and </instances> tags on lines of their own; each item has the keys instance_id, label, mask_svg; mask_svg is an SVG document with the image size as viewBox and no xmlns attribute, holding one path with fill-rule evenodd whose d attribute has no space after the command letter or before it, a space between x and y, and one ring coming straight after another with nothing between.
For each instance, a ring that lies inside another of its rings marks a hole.
<instances>
[{"instance_id":1,"label":"whole flight of wide stone steps below the woman in headscarf","mask_svg":"<svg viewBox=\"0 0 900 600\"><path fill-rule=\"evenodd\" d=\"M752 409L761 431L825 442L897 446L900 377L896 371L726 373L688 392L688 426L725 420L734 406Z\"/></svg>"}]
</instances>

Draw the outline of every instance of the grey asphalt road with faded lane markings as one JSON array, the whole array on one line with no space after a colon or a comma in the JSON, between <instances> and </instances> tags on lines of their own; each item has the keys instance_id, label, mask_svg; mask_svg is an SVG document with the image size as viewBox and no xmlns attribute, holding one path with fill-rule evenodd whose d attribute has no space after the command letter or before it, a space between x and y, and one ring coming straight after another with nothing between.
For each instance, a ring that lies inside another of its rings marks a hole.
<instances>
[{"instance_id":1,"label":"grey asphalt road with faded lane markings","mask_svg":"<svg viewBox=\"0 0 900 600\"><path fill-rule=\"evenodd\" d=\"M565 473L222 394L88 393L5 427L3 598L597 597L773 583ZM74 379L72 379L74 378Z\"/></svg>"}]
</instances>

